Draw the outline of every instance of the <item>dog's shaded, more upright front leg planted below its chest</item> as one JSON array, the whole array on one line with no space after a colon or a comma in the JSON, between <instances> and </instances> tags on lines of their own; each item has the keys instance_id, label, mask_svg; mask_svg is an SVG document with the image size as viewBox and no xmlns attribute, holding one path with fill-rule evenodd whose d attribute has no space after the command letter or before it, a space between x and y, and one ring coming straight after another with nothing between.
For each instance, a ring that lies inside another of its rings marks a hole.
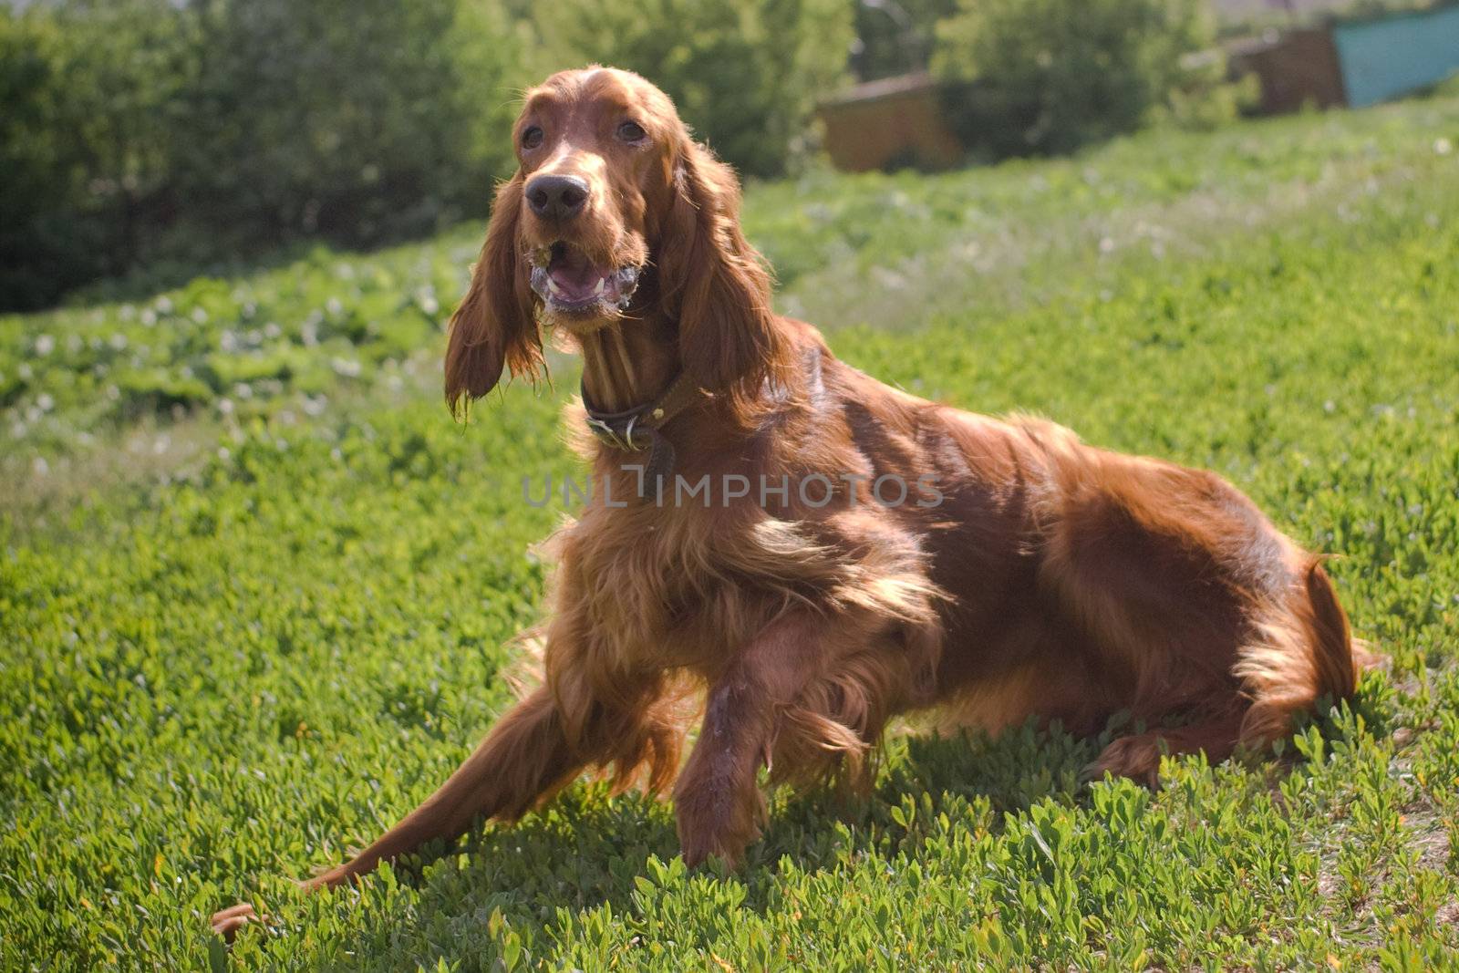
<instances>
[{"instance_id":1,"label":"dog's shaded, more upright front leg planted below its chest","mask_svg":"<svg viewBox=\"0 0 1459 973\"><path fill-rule=\"evenodd\" d=\"M756 775L775 743L781 710L814 677L818 639L798 617L772 623L713 680L694 753L674 788L684 861L738 864L765 820Z\"/></svg>"}]
</instances>

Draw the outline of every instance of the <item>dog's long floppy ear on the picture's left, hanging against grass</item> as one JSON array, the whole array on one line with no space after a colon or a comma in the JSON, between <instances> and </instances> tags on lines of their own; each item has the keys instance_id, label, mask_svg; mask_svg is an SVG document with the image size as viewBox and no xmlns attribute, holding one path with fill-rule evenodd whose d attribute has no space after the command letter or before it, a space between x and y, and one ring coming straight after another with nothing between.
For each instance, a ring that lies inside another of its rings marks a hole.
<instances>
[{"instance_id":1,"label":"dog's long floppy ear on the picture's left, hanging against grass","mask_svg":"<svg viewBox=\"0 0 1459 973\"><path fill-rule=\"evenodd\" d=\"M492 225L471 286L451 315L446 343L446 404L461 416L473 398L486 395L506 368L535 381L546 369L533 290L518 258L516 223L522 210L522 174L496 191Z\"/></svg>"}]
</instances>

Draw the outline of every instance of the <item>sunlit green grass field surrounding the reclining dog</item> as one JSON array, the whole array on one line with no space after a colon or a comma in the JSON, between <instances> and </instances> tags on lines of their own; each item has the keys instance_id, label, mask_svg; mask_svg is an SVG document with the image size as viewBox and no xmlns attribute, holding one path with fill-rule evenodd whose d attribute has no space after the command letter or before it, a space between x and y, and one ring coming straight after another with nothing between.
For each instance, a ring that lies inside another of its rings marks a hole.
<instances>
[{"instance_id":1,"label":"sunlit green grass field surrounding the reclining dog","mask_svg":"<svg viewBox=\"0 0 1459 973\"><path fill-rule=\"evenodd\" d=\"M1157 794L1077 782L1107 734L900 734L865 799L778 792L735 874L578 785L359 890L283 878L455 767L537 619L563 511L519 477L572 470L573 375L449 422L480 228L0 321L0 966L1455 969L1453 146L1440 98L750 190L842 357L1215 468L1335 556L1392 668ZM239 897L271 922L229 954L206 919Z\"/></svg>"}]
</instances>

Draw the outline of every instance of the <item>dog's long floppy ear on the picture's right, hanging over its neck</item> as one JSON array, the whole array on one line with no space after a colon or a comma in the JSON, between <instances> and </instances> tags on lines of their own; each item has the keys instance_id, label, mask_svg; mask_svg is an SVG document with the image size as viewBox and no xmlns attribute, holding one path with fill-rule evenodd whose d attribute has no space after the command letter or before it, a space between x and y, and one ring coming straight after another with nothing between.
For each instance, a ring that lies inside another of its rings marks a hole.
<instances>
[{"instance_id":1,"label":"dog's long floppy ear on the picture's right, hanging over its neck","mask_svg":"<svg viewBox=\"0 0 1459 973\"><path fill-rule=\"evenodd\" d=\"M706 389L751 397L789 363L770 308L770 274L740 230L734 171L686 134L674 201L658 245L664 305L678 319L678 354Z\"/></svg>"}]
</instances>

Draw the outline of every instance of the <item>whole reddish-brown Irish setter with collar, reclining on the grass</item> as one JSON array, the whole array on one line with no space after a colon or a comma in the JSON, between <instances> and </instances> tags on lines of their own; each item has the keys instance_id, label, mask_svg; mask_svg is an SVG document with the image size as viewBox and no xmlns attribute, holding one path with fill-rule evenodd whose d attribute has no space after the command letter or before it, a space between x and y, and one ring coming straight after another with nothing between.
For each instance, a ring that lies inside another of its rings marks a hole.
<instances>
[{"instance_id":1,"label":"whole reddish-brown Irish setter with collar, reclining on the grass","mask_svg":"<svg viewBox=\"0 0 1459 973\"><path fill-rule=\"evenodd\" d=\"M570 422L601 489L554 538L540 689L308 887L514 820L585 769L673 783L684 859L732 862L762 764L855 778L899 713L1091 734L1128 710L1156 728L1091 770L1153 782L1163 753L1221 760L1352 693L1363 652L1319 559L1220 477L915 398L778 317L734 174L642 77L556 74L514 137L446 400L540 373L550 325L584 357ZM686 699L703 722L681 761Z\"/></svg>"}]
</instances>

